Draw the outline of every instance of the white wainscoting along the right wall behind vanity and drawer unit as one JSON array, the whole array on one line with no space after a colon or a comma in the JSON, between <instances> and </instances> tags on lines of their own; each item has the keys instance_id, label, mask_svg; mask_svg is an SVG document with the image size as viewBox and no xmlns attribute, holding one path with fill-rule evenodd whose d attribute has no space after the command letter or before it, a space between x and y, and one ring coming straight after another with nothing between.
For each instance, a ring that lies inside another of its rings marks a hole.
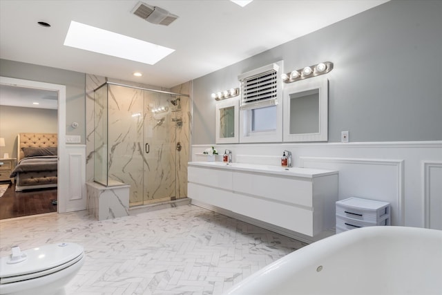
<instances>
[{"instance_id":1,"label":"white wainscoting along the right wall behind vanity and drawer unit","mask_svg":"<svg viewBox=\"0 0 442 295\"><path fill-rule=\"evenodd\" d=\"M392 225L442 229L442 141L349 142L305 144L198 144L192 160L214 146L233 162L280 165L282 151L293 154L297 167L339 172L338 199L351 196L392 204Z\"/></svg>"}]
</instances>

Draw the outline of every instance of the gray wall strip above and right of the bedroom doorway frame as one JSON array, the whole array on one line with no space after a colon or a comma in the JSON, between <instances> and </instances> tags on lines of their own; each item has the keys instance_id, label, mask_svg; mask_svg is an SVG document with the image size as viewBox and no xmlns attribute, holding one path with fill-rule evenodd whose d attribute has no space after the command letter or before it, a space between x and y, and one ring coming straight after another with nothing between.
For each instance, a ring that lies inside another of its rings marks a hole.
<instances>
[{"instance_id":1,"label":"gray wall strip above and right of the bedroom doorway frame","mask_svg":"<svg viewBox=\"0 0 442 295\"><path fill-rule=\"evenodd\" d=\"M86 74L0 59L0 75L66 86L66 135L80 135L86 144ZM78 122L73 129L70 124Z\"/></svg>"}]
</instances>

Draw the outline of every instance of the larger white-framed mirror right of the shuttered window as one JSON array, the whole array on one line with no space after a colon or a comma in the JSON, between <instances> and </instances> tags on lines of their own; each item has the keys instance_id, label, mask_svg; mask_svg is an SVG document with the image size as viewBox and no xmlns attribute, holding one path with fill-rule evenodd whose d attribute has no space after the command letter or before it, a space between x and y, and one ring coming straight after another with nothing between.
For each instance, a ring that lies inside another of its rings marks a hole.
<instances>
[{"instance_id":1,"label":"larger white-framed mirror right of the shuttered window","mask_svg":"<svg viewBox=\"0 0 442 295\"><path fill-rule=\"evenodd\" d=\"M284 142L328 140L328 80L315 77L284 88Z\"/></svg>"}]
</instances>

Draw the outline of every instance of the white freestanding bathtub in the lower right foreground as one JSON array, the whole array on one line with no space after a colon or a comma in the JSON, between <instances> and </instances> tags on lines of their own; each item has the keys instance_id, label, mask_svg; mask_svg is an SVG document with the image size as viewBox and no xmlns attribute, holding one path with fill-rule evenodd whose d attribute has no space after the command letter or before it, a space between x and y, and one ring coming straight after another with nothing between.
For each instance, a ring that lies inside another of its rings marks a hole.
<instances>
[{"instance_id":1,"label":"white freestanding bathtub in the lower right foreground","mask_svg":"<svg viewBox=\"0 0 442 295\"><path fill-rule=\"evenodd\" d=\"M442 231L363 227L319 240L234 285L229 295L442 294Z\"/></svg>"}]
</instances>

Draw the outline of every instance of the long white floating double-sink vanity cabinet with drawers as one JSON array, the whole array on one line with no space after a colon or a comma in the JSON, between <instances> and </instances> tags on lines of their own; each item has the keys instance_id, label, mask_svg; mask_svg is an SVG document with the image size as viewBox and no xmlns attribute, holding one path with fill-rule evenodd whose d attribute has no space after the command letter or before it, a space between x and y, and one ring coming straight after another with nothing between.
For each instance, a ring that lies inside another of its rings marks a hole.
<instances>
[{"instance_id":1,"label":"long white floating double-sink vanity cabinet with drawers","mask_svg":"<svg viewBox=\"0 0 442 295\"><path fill-rule=\"evenodd\" d=\"M189 162L188 196L307 236L335 225L338 172Z\"/></svg>"}]
</instances>

